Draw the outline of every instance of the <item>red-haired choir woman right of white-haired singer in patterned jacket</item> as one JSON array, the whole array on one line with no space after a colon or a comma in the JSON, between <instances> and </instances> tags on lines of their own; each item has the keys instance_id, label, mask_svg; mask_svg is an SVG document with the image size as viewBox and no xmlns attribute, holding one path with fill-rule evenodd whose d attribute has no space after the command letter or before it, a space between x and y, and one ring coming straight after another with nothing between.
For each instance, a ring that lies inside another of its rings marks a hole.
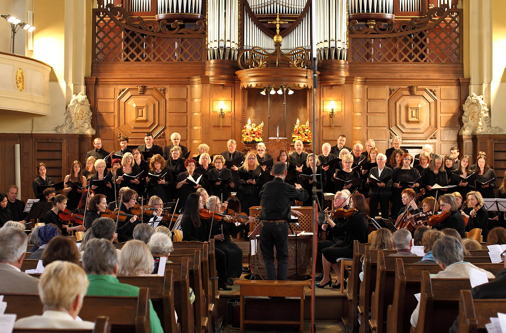
<instances>
[{"instance_id":1,"label":"red-haired choir woman right of white-haired singer in patterned jacket","mask_svg":"<svg viewBox=\"0 0 506 333\"><path fill-rule=\"evenodd\" d=\"M418 170L409 166L412 161L411 155L405 153L402 155L401 160L402 167L395 168L392 173L392 186L394 187L394 191L392 194L392 209L390 210L390 217L393 219L397 219L397 216L399 216L399 210L403 206L401 199L402 191L409 187L413 188L416 192L416 188L420 186L419 182L415 182L413 185L408 185L407 187L400 184L401 181L413 182L420 177Z\"/></svg>"}]
</instances>

